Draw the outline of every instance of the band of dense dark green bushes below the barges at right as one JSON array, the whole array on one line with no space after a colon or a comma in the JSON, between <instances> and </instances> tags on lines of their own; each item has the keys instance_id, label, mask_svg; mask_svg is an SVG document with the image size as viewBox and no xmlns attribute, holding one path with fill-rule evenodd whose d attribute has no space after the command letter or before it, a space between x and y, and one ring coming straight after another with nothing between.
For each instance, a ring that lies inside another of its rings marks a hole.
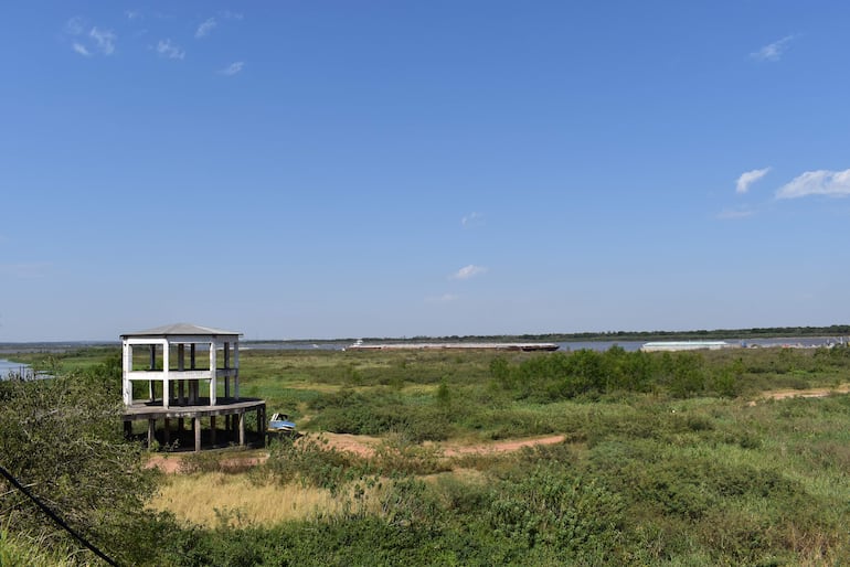
<instances>
[{"instance_id":1,"label":"band of dense dark green bushes below the barges at right","mask_svg":"<svg viewBox=\"0 0 850 567\"><path fill-rule=\"evenodd\" d=\"M604 352L555 352L519 362L497 357L489 371L497 388L514 399L542 404L616 393L735 397L766 387L805 388L847 372L847 352L850 347L836 346L645 353L613 346Z\"/></svg>"}]
</instances>

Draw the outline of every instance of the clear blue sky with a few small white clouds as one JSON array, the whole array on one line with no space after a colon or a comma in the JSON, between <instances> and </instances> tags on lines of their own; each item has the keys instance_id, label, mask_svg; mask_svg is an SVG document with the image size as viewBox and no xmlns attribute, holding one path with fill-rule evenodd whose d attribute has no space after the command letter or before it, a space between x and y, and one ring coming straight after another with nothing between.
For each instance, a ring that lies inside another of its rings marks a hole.
<instances>
[{"instance_id":1,"label":"clear blue sky with a few small white clouds","mask_svg":"<svg viewBox=\"0 0 850 567\"><path fill-rule=\"evenodd\" d=\"M0 341L850 320L850 3L3 12Z\"/></svg>"}]
</instances>

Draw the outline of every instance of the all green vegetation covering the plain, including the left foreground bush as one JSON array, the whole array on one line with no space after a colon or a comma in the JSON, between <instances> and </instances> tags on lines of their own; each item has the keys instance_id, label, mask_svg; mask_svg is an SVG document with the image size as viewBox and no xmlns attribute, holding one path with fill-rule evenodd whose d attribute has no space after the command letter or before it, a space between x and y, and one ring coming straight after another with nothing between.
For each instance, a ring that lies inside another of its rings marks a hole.
<instances>
[{"instance_id":1,"label":"all green vegetation covering the plain, including the left foreground bush","mask_svg":"<svg viewBox=\"0 0 850 567\"><path fill-rule=\"evenodd\" d=\"M245 351L243 395L289 413L307 435L238 474L257 486L330 491L344 505L274 524L227 510L215 527L141 507L164 480L119 438L116 361L114 347L23 361L57 379L2 385L0 454L126 563L850 564L850 396L766 396L844 387L848 347ZM71 426L83 439L63 430ZM322 431L378 441L354 454ZM536 435L565 441L509 453L440 449ZM188 462L220 470L209 456ZM35 538L70 565L93 560L70 554L74 542L7 486L0 526L0 557L26 557Z\"/></svg>"}]
</instances>

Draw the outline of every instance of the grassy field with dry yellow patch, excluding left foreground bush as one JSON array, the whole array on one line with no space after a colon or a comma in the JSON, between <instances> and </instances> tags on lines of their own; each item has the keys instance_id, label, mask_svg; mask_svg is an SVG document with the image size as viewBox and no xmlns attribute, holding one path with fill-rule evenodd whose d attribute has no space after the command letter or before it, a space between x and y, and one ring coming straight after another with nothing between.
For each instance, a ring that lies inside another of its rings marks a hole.
<instances>
[{"instance_id":1,"label":"grassy field with dry yellow patch, excluding left foreground bush","mask_svg":"<svg viewBox=\"0 0 850 567\"><path fill-rule=\"evenodd\" d=\"M768 395L846 386L843 347L257 350L241 375L307 435L236 473L237 451L184 457L150 504L182 526L164 564L850 564L850 396ZM565 441L443 451L543 435Z\"/></svg>"}]
</instances>

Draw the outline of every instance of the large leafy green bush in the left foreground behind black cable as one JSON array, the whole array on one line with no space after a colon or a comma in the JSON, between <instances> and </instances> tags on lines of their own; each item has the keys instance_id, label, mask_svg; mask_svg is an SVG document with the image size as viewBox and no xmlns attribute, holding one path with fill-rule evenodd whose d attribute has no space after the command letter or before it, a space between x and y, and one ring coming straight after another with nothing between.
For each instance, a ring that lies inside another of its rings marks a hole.
<instances>
[{"instance_id":1,"label":"large leafy green bush in the left foreground behind black cable","mask_svg":"<svg viewBox=\"0 0 850 567\"><path fill-rule=\"evenodd\" d=\"M111 365L114 366L114 365ZM155 490L140 447L123 438L120 376L103 365L0 385L0 464L77 533L123 563L144 554L140 528ZM0 482L0 525L43 546L76 546L20 491ZM86 555L79 556L85 561Z\"/></svg>"}]
</instances>

